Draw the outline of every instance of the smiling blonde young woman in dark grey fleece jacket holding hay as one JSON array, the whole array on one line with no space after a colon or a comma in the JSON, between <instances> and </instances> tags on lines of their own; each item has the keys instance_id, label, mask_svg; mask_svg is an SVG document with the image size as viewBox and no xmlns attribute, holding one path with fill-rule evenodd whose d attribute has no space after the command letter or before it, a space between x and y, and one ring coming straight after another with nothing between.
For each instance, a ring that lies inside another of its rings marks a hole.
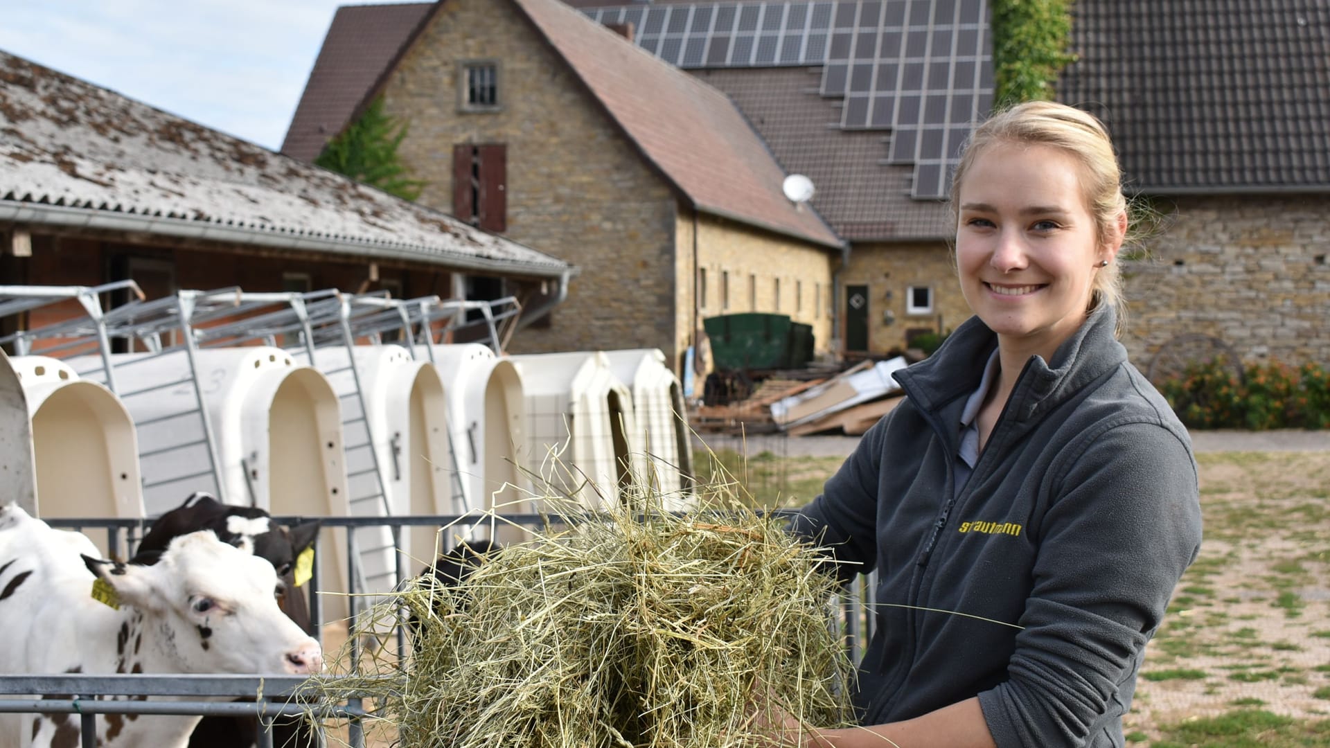
<instances>
[{"instance_id":1,"label":"smiling blonde young woman in dark grey fleece jacket holding hay","mask_svg":"<svg viewBox=\"0 0 1330 748\"><path fill-rule=\"evenodd\" d=\"M1121 747L1201 512L1188 434L1116 339L1128 218L1108 133L1059 104L996 114L952 204L975 315L896 374L904 402L794 526L846 579L878 572L866 727L782 740Z\"/></svg>"}]
</instances>

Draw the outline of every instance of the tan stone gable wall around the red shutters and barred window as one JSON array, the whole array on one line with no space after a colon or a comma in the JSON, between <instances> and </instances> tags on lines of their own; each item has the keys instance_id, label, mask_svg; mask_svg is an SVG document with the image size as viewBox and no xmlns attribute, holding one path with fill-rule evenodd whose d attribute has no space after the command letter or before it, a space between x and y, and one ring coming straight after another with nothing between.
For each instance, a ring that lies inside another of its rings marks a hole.
<instances>
[{"instance_id":1,"label":"tan stone gable wall around the red shutters and barred window","mask_svg":"<svg viewBox=\"0 0 1330 748\"><path fill-rule=\"evenodd\" d=\"M497 112L462 112L462 61L499 63ZM399 153L430 181L419 202L452 213L452 148L507 146L507 230L576 265L549 327L511 350L660 347L676 355L676 196L511 3L446 3L384 89L410 122Z\"/></svg>"}]
</instances>

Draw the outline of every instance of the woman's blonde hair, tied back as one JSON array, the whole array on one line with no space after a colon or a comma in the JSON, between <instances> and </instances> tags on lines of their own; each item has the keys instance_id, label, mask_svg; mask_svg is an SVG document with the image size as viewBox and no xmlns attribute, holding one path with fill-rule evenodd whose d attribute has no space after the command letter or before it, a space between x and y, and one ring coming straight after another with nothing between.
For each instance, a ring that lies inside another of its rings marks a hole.
<instances>
[{"instance_id":1,"label":"woman's blonde hair, tied back","mask_svg":"<svg viewBox=\"0 0 1330 748\"><path fill-rule=\"evenodd\" d=\"M1127 198L1123 196L1123 173L1108 128L1093 114L1052 101L1017 104L994 114L971 133L951 181L954 213L959 205L960 184L975 158L987 148L1000 144L1047 145L1075 157L1081 164L1081 192L1095 217L1100 244L1108 244L1117 234L1119 216L1127 212ZM1087 311L1100 306L1115 307L1117 333L1121 334L1127 325L1127 307L1117 262L1109 262L1095 274Z\"/></svg>"}]
</instances>

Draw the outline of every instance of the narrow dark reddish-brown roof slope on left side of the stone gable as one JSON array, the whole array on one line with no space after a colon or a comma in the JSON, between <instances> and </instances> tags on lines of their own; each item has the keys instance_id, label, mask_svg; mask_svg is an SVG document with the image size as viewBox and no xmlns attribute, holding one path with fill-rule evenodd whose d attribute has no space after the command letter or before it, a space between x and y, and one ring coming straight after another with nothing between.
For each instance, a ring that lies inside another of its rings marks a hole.
<instances>
[{"instance_id":1,"label":"narrow dark reddish-brown roof slope on left side of the stone gable","mask_svg":"<svg viewBox=\"0 0 1330 748\"><path fill-rule=\"evenodd\" d=\"M406 3L338 8L286 130L282 153L314 161L432 7Z\"/></svg>"}]
</instances>

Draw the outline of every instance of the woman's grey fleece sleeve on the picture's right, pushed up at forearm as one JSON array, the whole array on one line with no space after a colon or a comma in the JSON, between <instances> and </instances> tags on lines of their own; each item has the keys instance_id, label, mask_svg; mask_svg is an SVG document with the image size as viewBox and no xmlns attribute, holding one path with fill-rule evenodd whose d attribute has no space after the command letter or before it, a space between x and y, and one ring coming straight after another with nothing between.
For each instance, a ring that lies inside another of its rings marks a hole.
<instances>
[{"instance_id":1,"label":"woman's grey fleece sleeve on the picture's right, pushed up at forearm","mask_svg":"<svg viewBox=\"0 0 1330 748\"><path fill-rule=\"evenodd\" d=\"M1051 471L1008 680L979 695L999 748L1083 745L1105 715L1127 709L1112 700L1200 551L1184 439L1158 423L1109 425Z\"/></svg>"}]
</instances>

